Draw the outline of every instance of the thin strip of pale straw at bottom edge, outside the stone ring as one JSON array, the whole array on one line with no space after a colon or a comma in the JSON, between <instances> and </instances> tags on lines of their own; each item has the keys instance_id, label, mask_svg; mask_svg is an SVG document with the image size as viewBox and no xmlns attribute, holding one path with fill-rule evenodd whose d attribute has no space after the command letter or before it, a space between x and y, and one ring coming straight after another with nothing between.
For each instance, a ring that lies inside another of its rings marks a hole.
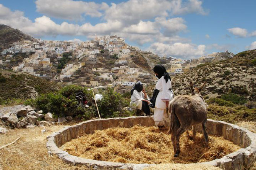
<instances>
[{"instance_id":1,"label":"thin strip of pale straw at bottom edge, outside the stone ring","mask_svg":"<svg viewBox=\"0 0 256 170\"><path fill-rule=\"evenodd\" d=\"M146 167L144 170L221 170L218 167L212 167L209 165L200 165L200 164L162 164L162 165L153 165L151 167Z\"/></svg>"}]
</instances>

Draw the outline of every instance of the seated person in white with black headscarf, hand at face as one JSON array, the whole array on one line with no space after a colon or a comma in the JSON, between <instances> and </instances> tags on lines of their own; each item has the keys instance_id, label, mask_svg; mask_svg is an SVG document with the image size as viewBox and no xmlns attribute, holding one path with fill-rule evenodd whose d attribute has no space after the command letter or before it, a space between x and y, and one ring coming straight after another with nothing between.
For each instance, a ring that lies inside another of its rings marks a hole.
<instances>
[{"instance_id":1,"label":"seated person in white with black headscarf, hand at face","mask_svg":"<svg viewBox=\"0 0 256 170\"><path fill-rule=\"evenodd\" d=\"M145 89L143 89L143 84L140 81L138 81L131 89L130 105L132 108L143 110L143 112L147 116L149 116L150 115L149 104L151 104L151 102L149 102L149 97L147 96Z\"/></svg>"}]
</instances>

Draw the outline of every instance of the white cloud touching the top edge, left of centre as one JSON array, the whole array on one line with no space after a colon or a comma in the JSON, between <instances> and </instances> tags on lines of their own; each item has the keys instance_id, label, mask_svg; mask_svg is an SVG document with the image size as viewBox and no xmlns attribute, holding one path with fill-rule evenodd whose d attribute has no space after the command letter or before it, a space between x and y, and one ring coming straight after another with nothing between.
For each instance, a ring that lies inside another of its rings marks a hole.
<instances>
[{"instance_id":1,"label":"white cloud touching the top edge, left of centre","mask_svg":"<svg viewBox=\"0 0 256 170\"><path fill-rule=\"evenodd\" d=\"M50 17L68 20L79 20L83 14L92 17L102 16L102 12L109 8L107 3L83 2L73 0L37 0L37 11Z\"/></svg>"}]
</instances>

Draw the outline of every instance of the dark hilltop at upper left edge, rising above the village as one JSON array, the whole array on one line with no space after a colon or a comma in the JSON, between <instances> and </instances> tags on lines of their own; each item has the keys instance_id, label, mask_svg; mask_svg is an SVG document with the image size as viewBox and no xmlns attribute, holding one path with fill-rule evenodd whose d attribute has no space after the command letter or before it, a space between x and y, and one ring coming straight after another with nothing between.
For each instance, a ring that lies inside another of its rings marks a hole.
<instances>
[{"instance_id":1,"label":"dark hilltop at upper left edge, rising above the village","mask_svg":"<svg viewBox=\"0 0 256 170\"><path fill-rule=\"evenodd\" d=\"M18 29L13 29L7 25L0 24L0 52L2 49L8 48L11 43L19 40L34 40L34 38L24 34Z\"/></svg>"}]
</instances>

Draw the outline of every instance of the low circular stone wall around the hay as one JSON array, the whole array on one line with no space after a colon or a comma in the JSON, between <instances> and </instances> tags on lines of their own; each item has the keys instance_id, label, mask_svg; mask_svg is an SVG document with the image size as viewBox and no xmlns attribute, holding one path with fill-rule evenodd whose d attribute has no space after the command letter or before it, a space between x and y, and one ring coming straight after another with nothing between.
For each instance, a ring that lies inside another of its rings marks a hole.
<instances>
[{"instance_id":1,"label":"low circular stone wall around the hay","mask_svg":"<svg viewBox=\"0 0 256 170\"><path fill-rule=\"evenodd\" d=\"M57 154L64 162L69 164L83 164L87 167L96 169L111 170L142 170L149 164L123 164L117 162L107 162L92 159L84 159L68 154L66 151L59 149L64 143L77 138L84 133L94 133L95 130L108 129L112 127L133 127L135 125L154 126L152 116L128 117L128 118L111 118L96 119L81 122L77 125L65 127L59 132L55 132L47 137L47 149L49 154ZM197 126L200 131L201 126ZM207 120L207 132L209 135L223 136L225 139L239 145L242 149L230 153L221 159L203 162L201 164L213 165L224 170L242 170L250 167L255 160L256 155L256 134L249 130L243 129L233 124L223 121Z\"/></svg>"}]
</instances>

